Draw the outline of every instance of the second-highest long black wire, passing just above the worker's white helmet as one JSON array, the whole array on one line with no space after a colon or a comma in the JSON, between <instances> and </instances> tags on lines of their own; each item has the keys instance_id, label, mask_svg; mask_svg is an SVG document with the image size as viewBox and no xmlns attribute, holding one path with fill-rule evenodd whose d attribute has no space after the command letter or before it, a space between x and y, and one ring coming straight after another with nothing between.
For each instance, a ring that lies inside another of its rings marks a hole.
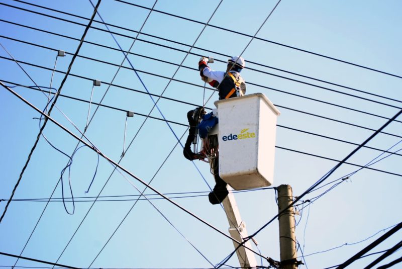
<instances>
[{"instance_id":1,"label":"second-highest long black wire, passing just above the worker's white helmet","mask_svg":"<svg viewBox=\"0 0 402 269\"><path fill-rule=\"evenodd\" d=\"M43 6L40 6L40 5L35 5L35 4L33 4L33 3L24 2L24 1L21 1L21 0L14 0L14 1L20 2L20 3L24 3L24 4L27 4L27 5L30 5L30 6L38 7L38 8L41 8L41 9L50 10L50 11L53 11L53 12L65 14L65 15L68 15L68 16L71 16L71 17L80 18L80 19L83 19L83 20L89 20L88 18L79 16L79 15L75 15L75 14L71 14L71 13L68 13L68 12L59 11L59 10L56 10L56 9L51 9L51 8L48 8L48 7L43 7ZM168 14L168 13L167 13L167 14ZM168 15L171 15L171 14L168 14ZM186 19L186 18L184 18L184 19ZM95 20L95 22L98 22L98 21ZM122 30L125 30L125 31L129 31L129 32L133 32L133 33L138 33L138 31L135 31L135 30L132 30L132 29L129 29L129 28L126 28L126 27L122 27L122 26L118 26L118 25L114 25L114 24L109 24L109 23L107 23L107 25L108 25L108 26L115 27L115 28L117 28L117 29L122 29ZM144 33L144 32L142 32L141 34L144 35L144 36L149 36L149 37L157 38L157 39L159 39L159 40L168 41L168 42L171 42L171 43L174 43L174 44L183 45L183 46L189 46L188 44L185 44L185 43L182 43L182 42L177 42L177 41L174 41L174 40L169 40L169 39L162 38L162 37L158 37L158 36L155 36L155 35L146 34L146 33ZM225 56L225 57L231 57L230 55L223 54L223 53L221 53L221 52L216 52L216 51L212 51L212 50L206 50L206 49L199 48L199 47L195 47L195 46L194 46L194 48L200 49L200 50L204 50L204 51L207 51L207 52L211 52L211 53L214 53L214 54L219 54L219 55L222 55L222 56ZM192 55L196 55L196 56L203 56L203 55L195 54L195 53L191 53L191 54L192 54ZM338 83L334 83L334 82L330 82L330 81L326 81L326 80L314 78L314 77L307 76L307 75L298 74L298 73L295 73L295 72L290 72L290 71L288 71L288 70L276 68L276 67L273 67L273 66L268 66L268 65L261 64L261 63L257 63L257 62L253 62L253 61L250 61L250 60L248 60L247 62L248 62L248 63L255 64L255 65L259 65L259 66L271 68L271 69L274 69L274 70L277 70L277 71L289 73L289 74L292 74L292 75L297 75L297 76L300 76L300 77L304 77L304 78L316 80L316 81L319 81L319 82L324 82L324 83L331 84L331 85L334 85L334 86L339 86L339 87L347 88L347 89L350 89L351 91L360 92L360 93L364 93L364 94L367 94L367 95L371 95L371 96L376 96L376 97L379 97L379 98L383 98L383 99L386 99L386 100L390 100L390 101L395 101L395 102L398 102L398 103L402 103L402 101L400 101L400 100L396 100L396 99L384 97L384 96L381 96L381 95L376 95L376 94L373 94L373 93L369 93L369 92L366 92L366 91L362 91L362 90L360 90L360 89L348 87L348 86L341 85L341 84L338 84ZM247 68L247 69L250 69L250 68ZM258 70L258 69L250 69L250 70L260 71L260 70ZM275 75L275 74L272 74L272 75Z\"/></svg>"}]
</instances>

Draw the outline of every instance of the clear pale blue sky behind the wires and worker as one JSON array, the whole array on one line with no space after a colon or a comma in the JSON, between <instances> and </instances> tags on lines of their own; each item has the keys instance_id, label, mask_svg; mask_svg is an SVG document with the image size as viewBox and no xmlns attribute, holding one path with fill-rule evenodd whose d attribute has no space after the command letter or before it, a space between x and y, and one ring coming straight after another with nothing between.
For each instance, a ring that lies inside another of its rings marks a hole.
<instances>
[{"instance_id":1,"label":"clear pale blue sky behind the wires and worker","mask_svg":"<svg viewBox=\"0 0 402 269\"><path fill-rule=\"evenodd\" d=\"M22 67L35 83L44 87L50 85L57 50L64 50L66 57L58 57L56 70L59 72L54 73L52 81L52 86L58 88L88 23L82 17L90 18L93 8L86 0L26 1L0 0L0 42L14 58L25 62ZM153 1L127 2L141 7L103 0L98 10L107 23L120 27L110 29L124 50L130 48L137 35L133 31L140 30L150 12L144 7L154 5ZM210 88L204 90L204 82L195 69L199 55L215 57L211 67L225 69L228 56L243 52L250 36L257 32L276 3L271 0L224 0L221 4L217 0L157 1L129 56L146 88L125 61L108 90L108 83L124 56L112 36L104 31L105 25L93 22L61 90L64 96L89 101L92 79L103 81L101 86L94 87L92 102L99 103L105 96L102 104L111 108L97 109L86 137L115 161L120 160L124 143L126 149L130 145L120 164L143 181L152 180L152 187L161 193L186 193L169 197L203 192L201 196L174 201L227 234L229 224L224 210L211 205L205 196L209 186L215 184L208 164L194 161L194 165L186 160L181 147L175 146L176 137L186 131L183 126L187 124L186 112L202 105L204 94L210 97L213 93ZM256 35L258 39L244 51L246 69L242 76L247 83L247 94L265 94L281 112L276 128L272 187L289 184L294 196L303 194L337 160L347 156L402 107L401 10L402 3L396 0L282 0ZM215 27L207 26L203 31L210 19L210 25ZM96 16L95 20L100 18ZM198 35L195 48L190 50ZM0 56L0 80L10 86L13 83L34 85L3 48ZM183 59L183 66L176 72ZM13 89L44 109L47 97L43 93L21 86ZM174 122L170 123L171 129L166 122L153 118L144 123L146 118L139 114L151 113L152 117L162 118L158 110L150 112L153 102L147 91L154 95L163 92L165 98L159 100L158 108L163 117ZM57 100L57 107L83 131L89 104L64 96ZM214 94L206 106L213 108L217 99L218 95ZM89 118L95 109L96 105L92 104ZM126 111L136 115L127 119L125 133ZM79 135L59 110L54 108L51 116ZM34 119L38 117L39 113L5 88L0 89L0 199L8 200L11 196L38 135L39 121ZM352 164L365 165L392 146L392 152L401 149L402 117L396 120L367 144L370 148L358 151L348 160L351 164L342 165L324 184L359 168ZM44 135L68 155L77 145L77 140L51 122L47 123ZM181 139L184 141L185 136ZM320 199L298 207L298 259L302 259L302 251L306 255L306 264L300 268L325 268L342 263L400 222L402 151L398 154L370 166L377 170L362 169ZM71 191L76 200L74 214L68 214L60 200L50 202L45 209L44 201L51 197L53 190L52 198L62 197L62 188L56 184L67 163L65 155L53 149L43 137L40 139L14 199L44 200L11 202L0 224L0 252L76 267L201 268L218 264L233 251L230 239L165 200L140 200L134 207L135 201L115 201L135 199L139 194L137 189L142 191L144 186L128 174L113 172L114 167L102 157L96 170L97 155L85 147L74 155L70 171ZM94 181L85 193L95 170ZM303 200L313 200L339 182ZM67 173L63 186L64 196L71 197ZM151 190L145 193L154 194ZM93 203L92 197L98 195L113 196L100 199L112 201ZM237 193L235 197L249 234L277 213L272 189ZM6 203L0 202L1 213ZM69 213L74 209L71 202L66 202L66 208ZM401 232L393 234L369 253L394 246L401 235ZM366 238L369 239L350 245ZM279 260L277 220L255 239L262 255ZM341 245L344 246L317 253ZM253 248L258 251L255 245ZM379 255L362 258L349 267L362 268ZM399 256L400 252L393 253L378 265ZM0 255L1 266L13 266L16 260ZM264 260L262 265L269 264ZM48 265L20 259L16 266ZM225 266L239 266L237 257L233 256ZM401 265L394 267L398 266Z\"/></svg>"}]
</instances>

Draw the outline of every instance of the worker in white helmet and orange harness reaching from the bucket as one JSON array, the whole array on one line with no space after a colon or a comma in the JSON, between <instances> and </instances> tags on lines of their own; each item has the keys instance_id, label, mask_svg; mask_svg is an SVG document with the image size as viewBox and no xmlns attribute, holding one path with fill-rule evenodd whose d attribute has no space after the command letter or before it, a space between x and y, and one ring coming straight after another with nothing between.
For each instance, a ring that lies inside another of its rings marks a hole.
<instances>
[{"instance_id":1,"label":"worker in white helmet and orange harness reaching from the bucket","mask_svg":"<svg viewBox=\"0 0 402 269\"><path fill-rule=\"evenodd\" d=\"M226 72L211 70L207 62L208 58L201 57L198 70L203 81L219 90L219 100L243 96L246 93L246 83L240 75L241 70L246 67L242 57L230 58Z\"/></svg>"}]
</instances>

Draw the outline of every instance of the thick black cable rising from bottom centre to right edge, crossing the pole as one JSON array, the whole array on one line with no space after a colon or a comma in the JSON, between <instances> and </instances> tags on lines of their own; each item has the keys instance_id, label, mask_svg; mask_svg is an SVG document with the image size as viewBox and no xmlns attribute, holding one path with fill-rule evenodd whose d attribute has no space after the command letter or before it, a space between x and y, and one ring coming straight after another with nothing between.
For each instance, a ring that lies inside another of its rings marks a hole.
<instances>
[{"instance_id":1,"label":"thick black cable rising from bottom centre to right edge, crossing the pole","mask_svg":"<svg viewBox=\"0 0 402 269\"><path fill-rule=\"evenodd\" d=\"M296 204L298 201L300 201L303 197L305 197L308 193L316 189L319 185L321 185L327 178L335 171L337 170L342 164L346 162L350 157L352 157L360 148L362 148L365 144L367 144L372 138L374 138L382 129L384 129L386 126L388 126L394 119L396 119L400 114L402 114L402 110L400 110L398 113L396 113L389 121L387 121L385 124L383 124L377 131L375 131L373 134L371 134L363 143L361 143L358 147L356 147L354 150L352 150L343 160L339 161L331 170L329 170L325 175L323 175L320 180L318 180L315 184L313 184L309 189L307 189L302 195L296 197L286 208L282 209L278 214L276 214L270 221L265 223L261 228L259 228L256 232L254 232L251 236L249 236L246 240L244 240L241 244L239 244L236 249L230 254L229 258L236 253L237 249L239 249L240 246L244 245L248 240L250 240L252 237L257 235L260 231L262 231L265 227L267 227L269 224L271 224L278 216L280 216L283 212L285 212L287 209L292 207L294 204ZM400 223L402 227L402 223ZM226 261L225 261L226 262ZM223 263L225 263L223 262Z\"/></svg>"}]
</instances>

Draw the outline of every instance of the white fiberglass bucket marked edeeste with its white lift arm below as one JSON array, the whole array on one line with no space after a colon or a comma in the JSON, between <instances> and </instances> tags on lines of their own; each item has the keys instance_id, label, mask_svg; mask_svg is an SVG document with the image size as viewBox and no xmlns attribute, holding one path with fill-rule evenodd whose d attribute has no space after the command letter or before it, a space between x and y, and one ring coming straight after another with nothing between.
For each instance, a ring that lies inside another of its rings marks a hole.
<instances>
[{"instance_id":1,"label":"white fiberglass bucket marked edeeste with its white lift arm below","mask_svg":"<svg viewBox=\"0 0 402 269\"><path fill-rule=\"evenodd\" d=\"M278 109L263 94L251 94L216 101L219 123L208 134L218 136L219 175L235 190L271 186L275 158L276 118ZM248 237L235 197L223 201L229 221L229 233L239 242ZM254 243L257 242L253 239ZM233 241L234 247L238 246ZM251 248L250 241L245 246ZM257 266L254 253L240 247L236 254L242 268Z\"/></svg>"}]
</instances>

